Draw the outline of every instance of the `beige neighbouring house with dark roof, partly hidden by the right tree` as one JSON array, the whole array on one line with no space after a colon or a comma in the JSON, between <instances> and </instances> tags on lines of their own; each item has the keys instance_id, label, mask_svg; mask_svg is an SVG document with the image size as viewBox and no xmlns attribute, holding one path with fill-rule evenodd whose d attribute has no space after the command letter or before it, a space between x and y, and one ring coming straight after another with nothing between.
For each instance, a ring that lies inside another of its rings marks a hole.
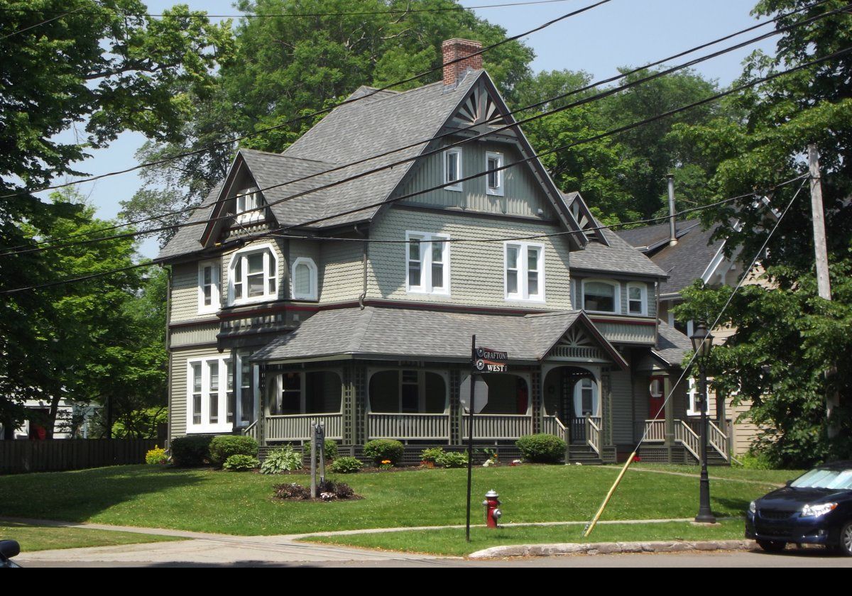
<instances>
[{"instance_id":1,"label":"beige neighbouring house with dark roof, partly hidden by the right tree","mask_svg":"<svg viewBox=\"0 0 852 596\"><path fill-rule=\"evenodd\" d=\"M729 285L734 286L743 275L743 265L735 255L728 258L724 254L724 240L711 242L715 228L705 230L699 221L688 220L676 223L676 237L671 238L671 225L657 224L655 226L638 227L631 230L619 232L619 236L635 249L642 251L659 266L667 275L668 279L659 285L659 308L658 316L661 321L670 324L680 330L684 335L692 335L693 322L681 324L674 318L672 308L682 303L682 289L692 285L695 280L701 279L705 284L711 286ZM746 284L765 284L763 269L757 265L746 278ZM712 330L715 337L714 345L722 345L729 337L736 333L736 329L719 326ZM694 379L689 379L688 411L690 417L698 417L699 411L695 408L695 397L697 384ZM722 427L719 421L726 421L731 437L731 450L734 456L745 454L753 444L759 432L759 427L749 421L748 412L750 402L743 402L734 406L733 396L724 400L717 399L714 392L709 394L709 412L711 418L715 418L717 425Z\"/></svg>"}]
</instances>

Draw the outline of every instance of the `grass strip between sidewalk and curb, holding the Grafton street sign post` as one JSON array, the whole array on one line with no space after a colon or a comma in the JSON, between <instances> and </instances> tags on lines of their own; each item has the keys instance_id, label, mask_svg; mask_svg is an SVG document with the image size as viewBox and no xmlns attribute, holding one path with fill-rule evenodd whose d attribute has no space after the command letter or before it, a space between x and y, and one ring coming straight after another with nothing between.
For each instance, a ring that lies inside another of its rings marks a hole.
<instances>
[{"instance_id":1,"label":"grass strip between sidewalk and curb, holding the Grafton street sign post","mask_svg":"<svg viewBox=\"0 0 852 596\"><path fill-rule=\"evenodd\" d=\"M479 523L479 520L477 520ZM463 557L484 548L510 544L542 544L552 542L640 542L651 540L733 540L743 537L743 522L728 519L714 526L697 526L685 522L664 524L603 524L592 535L582 536L583 525L504 527L498 530L471 528L470 542L464 540L464 529L407 530L352 536L312 536L306 542L323 542L348 547L380 548L409 553L440 554Z\"/></svg>"}]
</instances>

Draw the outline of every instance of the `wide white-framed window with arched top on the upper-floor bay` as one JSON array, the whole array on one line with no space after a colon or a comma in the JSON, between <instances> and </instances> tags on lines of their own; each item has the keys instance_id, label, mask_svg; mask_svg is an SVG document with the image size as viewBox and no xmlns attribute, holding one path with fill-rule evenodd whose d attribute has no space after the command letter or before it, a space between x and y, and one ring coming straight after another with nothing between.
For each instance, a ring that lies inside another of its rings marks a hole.
<instances>
[{"instance_id":1,"label":"wide white-framed window with arched top on the upper-floor bay","mask_svg":"<svg viewBox=\"0 0 852 596\"><path fill-rule=\"evenodd\" d=\"M278 297L278 257L272 244L238 250L228 268L227 303L245 304Z\"/></svg>"}]
</instances>

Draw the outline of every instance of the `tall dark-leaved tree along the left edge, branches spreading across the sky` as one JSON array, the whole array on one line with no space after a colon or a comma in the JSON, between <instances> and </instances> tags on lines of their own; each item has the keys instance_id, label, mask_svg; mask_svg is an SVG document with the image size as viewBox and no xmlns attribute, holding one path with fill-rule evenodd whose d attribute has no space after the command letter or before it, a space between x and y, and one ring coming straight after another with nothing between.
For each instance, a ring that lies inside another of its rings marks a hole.
<instances>
[{"instance_id":1,"label":"tall dark-leaved tree along the left edge, branches spreading across the sky","mask_svg":"<svg viewBox=\"0 0 852 596\"><path fill-rule=\"evenodd\" d=\"M128 16L147 12L137 0L0 0L0 9L0 252L8 252L73 227L78 204L43 202L29 190L83 174L75 163L89 148L125 129L179 140L187 94L210 93L232 37L229 23L210 25L185 6L162 19ZM47 352L61 362L41 327L57 315L55 292L6 293L66 277L51 255L0 255L0 420L7 428L20 422L20 401L57 390L34 358Z\"/></svg>"}]
</instances>

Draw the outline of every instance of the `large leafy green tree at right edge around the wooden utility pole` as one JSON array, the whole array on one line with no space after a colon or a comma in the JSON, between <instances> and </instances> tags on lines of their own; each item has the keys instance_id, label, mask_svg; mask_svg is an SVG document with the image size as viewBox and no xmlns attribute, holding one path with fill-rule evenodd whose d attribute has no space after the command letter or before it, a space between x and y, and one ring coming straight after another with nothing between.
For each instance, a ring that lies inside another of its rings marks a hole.
<instances>
[{"instance_id":1,"label":"large leafy green tree at right edge around the wooden utility pole","mask_svg":"<svg viewBox=\"0 0 852 596\"><path fill-rule=\"evenodd\" d=\"M755 14L804 9L777 26L838 9L842 2L763 0ZM785 32L774 56L755 52L746 60L740 83L785 70L848 48L852 19L847 14ZM710 179L712 200L761 192L807 172L805 147L819 146L823 199L832 278L832 301L817 295L807 186L790 203L761 254L765 284L750 285L734 298L722 324L737 328L734 338L713 353L717 385L739 391L754 404L751 417L767 427L758 449L774 462L803 466L827 456L852 455L852 58L844 54L775 78L737 95L736 121L682 126L675 131L705 163L717 163ZM736 84L736 83L735 83ZM799 183L769 194L774 209L785 209ZM762 192L761 192L762 193ZM705 225L718 226L730 254L757 254L774 218L753 197L707 209ZM740 231L741 230L741 231ZM728 289L691 289L679 318L715 318ZM826 370L836 370L826 377ZM842 407L826 434L826 395L837 393Z\"/></svg>"}]
</instances>

